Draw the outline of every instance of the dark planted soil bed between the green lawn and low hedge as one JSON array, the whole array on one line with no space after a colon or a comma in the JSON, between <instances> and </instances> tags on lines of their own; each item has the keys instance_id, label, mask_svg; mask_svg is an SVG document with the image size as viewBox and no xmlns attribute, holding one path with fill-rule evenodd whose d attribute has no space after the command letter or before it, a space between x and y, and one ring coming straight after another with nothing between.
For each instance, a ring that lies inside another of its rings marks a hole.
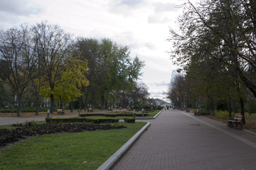
<instances>
[{"instance_id":1,"label":"dark planted soil bed between the green lawn and low hedge","mask_svg":"<svg viewBox=\"0 0 256 170\"><path fill-rule=\"evenodd\" d=\"M26 137L53 134L60 132L84 132L92 130L112 130L126 128L123 125L99 125L99 124L87 124L87 123L47 123L42 125L36 125L36 123L28 122L25 125L14 124L16 129L0 129L0 147L5 147L10 143L16 142Z\"/></svg>"}]
</instances>

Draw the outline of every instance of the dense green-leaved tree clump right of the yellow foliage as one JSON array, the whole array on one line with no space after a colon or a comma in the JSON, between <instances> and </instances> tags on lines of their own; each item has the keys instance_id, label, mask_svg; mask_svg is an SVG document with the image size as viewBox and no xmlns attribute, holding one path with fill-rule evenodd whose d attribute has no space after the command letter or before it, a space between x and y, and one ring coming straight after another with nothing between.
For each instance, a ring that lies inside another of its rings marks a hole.
<instances>
[{"instance_id":1,"label":"dense green-leaved tree clump right of the yellow foliage","mask_svg":"<svg viewBox=\"0 0 256 170\"><path fill-rule=\"evenodd\" d=\"M143 62L138 57L132 59L127 47L119 47L108 39L79 38L75 47L81 59L88 62L86 77L90 85L85 88L85 107L88 101L102 109L114 102L121 103L120 94L132 91Z\"/></svg>"}]
</instances>

